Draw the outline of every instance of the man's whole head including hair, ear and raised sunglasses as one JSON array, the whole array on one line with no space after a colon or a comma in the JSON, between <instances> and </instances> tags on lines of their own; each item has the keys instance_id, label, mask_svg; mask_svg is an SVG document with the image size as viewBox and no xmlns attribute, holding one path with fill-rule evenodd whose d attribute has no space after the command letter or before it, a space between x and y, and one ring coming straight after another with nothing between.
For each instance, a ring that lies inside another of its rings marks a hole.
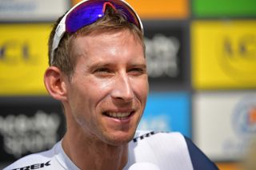
<instances>
[{"instance_id":1,"label":"man's whole head including hair, ear and raised sunglasses","mask_svg":"<svg viewBox=\"0 0 256 170\"><path fill-rule=\"evenodd\" d=\"M90 5L93 2L98 1ZM100 2L104 15L92 24L74 26L70 33L55 26L45 85L52 97L62 101L71 136L76 133L87 140L126 144L134 136L148 93L142 25L137 14L118 7L124 2ZM80 14L87 10L78 10L69 19L80 21Z\"/></svg>"}]
</instances>

